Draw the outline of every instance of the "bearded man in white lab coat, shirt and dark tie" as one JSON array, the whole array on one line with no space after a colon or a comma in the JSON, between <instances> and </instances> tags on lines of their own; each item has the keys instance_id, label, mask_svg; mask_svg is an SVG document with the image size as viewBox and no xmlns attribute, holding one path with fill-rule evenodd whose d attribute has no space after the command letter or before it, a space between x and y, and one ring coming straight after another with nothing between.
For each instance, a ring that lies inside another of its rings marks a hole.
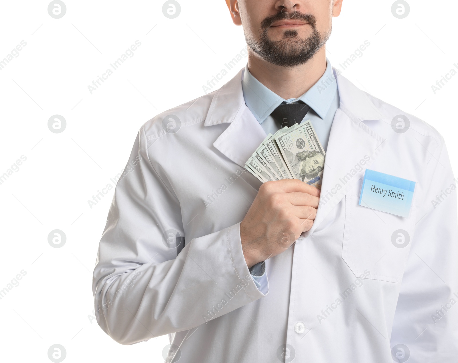
<instances>
[{"instance_id":1,"label":"bearded man in white lab coat, shirt and dark tie","mask_svg":"<svg viewBox=\"0 0 458 363\"><path fill-rule=\"evenodd\" d=\"M457 362L442 136L331 67L342 0L227 3L248 65L140 128L100 240L98 324L121 344L168 334L167 362ZM321 194L243 167L298 103L326 151ZM415 185L409 215L360 205L369 172Z\"/></svg>"}]
</instances>

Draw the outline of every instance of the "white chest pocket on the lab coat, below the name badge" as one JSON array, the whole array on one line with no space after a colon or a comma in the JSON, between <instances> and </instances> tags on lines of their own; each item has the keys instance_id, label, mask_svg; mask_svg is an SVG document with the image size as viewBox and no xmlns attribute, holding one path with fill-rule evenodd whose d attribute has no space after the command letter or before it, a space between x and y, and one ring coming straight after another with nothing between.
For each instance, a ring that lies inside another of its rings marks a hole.
<instances>
[{"instance_id":1,"label":"white chest pocket on the lab coat, below the name badge","mask_svg":"<svg viewBox=\"0 0 458 363\"><path fill-rule=\"evenodd\" d=\"M345 196L342 258L356 276L397 283L403 275L414 231L410 218L358 205L359 195Z\"/></svg>"}]
</instances>

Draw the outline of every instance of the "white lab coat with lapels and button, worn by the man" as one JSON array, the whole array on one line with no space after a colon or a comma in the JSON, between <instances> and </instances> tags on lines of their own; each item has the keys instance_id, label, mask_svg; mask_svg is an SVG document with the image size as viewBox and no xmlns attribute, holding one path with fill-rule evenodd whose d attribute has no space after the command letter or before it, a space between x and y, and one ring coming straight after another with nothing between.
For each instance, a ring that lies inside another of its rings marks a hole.
<instances>
[{"instance_id":1,"label":"white lab coat with lapels and button, worn by the man","mask_svg":"<svg viewBox=\"0 0 458 363\"><path fill-rule=\"evenodd\" d=\"M243 165L266 134L242 75L140 128L100 240L98 324L121 344L169 334L183 363L388 363L398 344L399 361L457 362L456 182L441 135L338 76L315 222L265 262L258 290L239 227L261 185ZM409 219L358 206L364 168L417 182Z\"/></svg>"}]
</instances>

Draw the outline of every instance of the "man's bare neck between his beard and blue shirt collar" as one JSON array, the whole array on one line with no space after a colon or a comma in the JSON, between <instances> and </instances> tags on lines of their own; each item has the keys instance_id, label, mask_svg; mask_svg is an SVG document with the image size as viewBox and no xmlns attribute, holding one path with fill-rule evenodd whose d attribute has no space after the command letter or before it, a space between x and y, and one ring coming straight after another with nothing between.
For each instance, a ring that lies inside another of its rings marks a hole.
<instances>
[{"instance_id":1,"label":"man's bare neck between his beard and blue shirt collar","mask_svg":"<svg viewBox=\"0 0 458 363\"><path fill-rule=\"evenodd\" d=\"M248 47L248 70L259 82L280 97L299 98L326 71L325 45L309 61L297 67L281 67L264 61Z\"/></svg>"}]
</instances>

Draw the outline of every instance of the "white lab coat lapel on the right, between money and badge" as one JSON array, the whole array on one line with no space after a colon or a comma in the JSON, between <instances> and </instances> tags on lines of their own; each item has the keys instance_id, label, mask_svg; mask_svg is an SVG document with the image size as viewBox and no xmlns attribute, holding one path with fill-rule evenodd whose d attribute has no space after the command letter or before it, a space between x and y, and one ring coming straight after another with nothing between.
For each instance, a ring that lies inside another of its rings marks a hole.
<instances>
[{"instance_id":1,"label":"white lab coat lapel on the right, between money and badge","mask_svg":"<svg viewBox=\"0 0 458 363\"><path fill-rule=\"evenodd\" d=\"M334 70L335 72L335 70ZM349 80L337 76L340 107L336 112L327 146L320 203L312 228L329 212L364 175L386 144L380 135L363 121L387 118L377 101L355 87Z\"/></svg>"}]
</instances>

